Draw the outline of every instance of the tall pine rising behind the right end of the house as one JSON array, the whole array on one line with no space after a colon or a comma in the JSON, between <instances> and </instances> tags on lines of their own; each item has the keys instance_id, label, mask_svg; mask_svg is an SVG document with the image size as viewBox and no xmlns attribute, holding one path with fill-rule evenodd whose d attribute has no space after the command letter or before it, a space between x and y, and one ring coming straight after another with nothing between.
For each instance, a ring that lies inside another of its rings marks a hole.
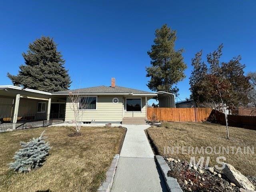
<instances>
[{"instance_id":1,"label":"tall pine rising behind the right end of the house","mask_svg":"<svg viewBox=\"0 0 256 192\"><path fill-rule=\"evenodd\" d=\"M156 38L148 55L151 66L146 68L150 81L147 86L153 91L165 91L178 94L174 86L185 78L184 70L187 68L183 61L183 50L175 50L176 31L171 30L166 24L155 32ZM174 86L174 87L173 87Z\"/></svg>"}]
</instances>

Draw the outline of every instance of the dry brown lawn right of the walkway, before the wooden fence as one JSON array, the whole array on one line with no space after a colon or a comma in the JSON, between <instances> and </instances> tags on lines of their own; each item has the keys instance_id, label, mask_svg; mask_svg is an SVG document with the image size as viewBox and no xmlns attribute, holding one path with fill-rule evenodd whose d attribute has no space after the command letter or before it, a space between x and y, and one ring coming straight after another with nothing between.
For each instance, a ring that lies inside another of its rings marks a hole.
<instances>
[{"instance_id":1,"label":"dry brown lawn right of the walkway, before the wooden fence","mask_svg":"<svg viewBox=\"0 0 256 192\"><path fill-rule=\"evenodd\" d=\"M191 156L196 157L196 161L201 156L205 159L210 156L210 166L219 165L216 163L218 156L226 157L226 162L232 164L236 169L246 176L256 176L256 154L182 154L180 151L174 154L164 154L164 147L186 146L186 147L227 147L249 146L256 150L256 130L247 130L243 128L230 127L230 140L226 139L226 127L218 124L209 123L188 123L172 122L163 123L161 127L152 127L148 129L148 135L153 140L156 149L162 156L180 158L190 161ZM237 148L236 148L237 149ZM236 150L234 150L236 152ZM167 152L167 150L166 150ZM219 165L220 166L220 165Z\"/></svg>"}]
</instances>

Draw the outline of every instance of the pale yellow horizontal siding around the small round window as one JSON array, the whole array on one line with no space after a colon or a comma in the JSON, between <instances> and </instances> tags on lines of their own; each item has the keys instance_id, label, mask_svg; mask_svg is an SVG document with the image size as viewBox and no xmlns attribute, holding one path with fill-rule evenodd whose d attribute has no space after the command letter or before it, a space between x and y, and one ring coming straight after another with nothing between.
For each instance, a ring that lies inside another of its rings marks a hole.
<instances>
[{"instance_id":1,"label":"pale yellow horizontal siding around the small round window","mask_svg":"<svg viewBox=\"0 0 256 192\"><path fill-rule=\"evenodd\" d=\"M117 97L119 102L114 104L112 99ZM123 118L122 96L98 96L96 110L84 110L83 119L86 122L121 122ZM74 120L70 98L67 98L65 121Z\"/></svg>"}]
</instances>

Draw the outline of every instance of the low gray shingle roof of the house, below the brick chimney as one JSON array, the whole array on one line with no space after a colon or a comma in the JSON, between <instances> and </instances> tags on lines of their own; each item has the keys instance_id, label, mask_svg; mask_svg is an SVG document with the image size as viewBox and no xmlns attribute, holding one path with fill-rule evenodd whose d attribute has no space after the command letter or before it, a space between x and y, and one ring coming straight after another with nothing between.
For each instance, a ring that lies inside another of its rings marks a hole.
<instances>
[{"instance_id":1,"label":"low gray shingle roof of the house, below the brick chimney","mask_svg":"<svg viewBox=\"0 0 256 192\"><path fill-rule=\"evenodd\" d=\"M66 90L66 91L58 91L58 92L53 92L53 94L67 94L70 91L77 91L77 90ZM108 86L96 86L96 87L88 87L88 88L82 88L79 90L81 94L89 94L89 93L134 93L134 94L152 94L152 92L147 92L147 91L142 91L142 90L137 90L137 89L131 89L131 88L126 88L126 87L120 87L120 86L115 86L113 87L108 87Z\"/></svg>"}]
</instances>

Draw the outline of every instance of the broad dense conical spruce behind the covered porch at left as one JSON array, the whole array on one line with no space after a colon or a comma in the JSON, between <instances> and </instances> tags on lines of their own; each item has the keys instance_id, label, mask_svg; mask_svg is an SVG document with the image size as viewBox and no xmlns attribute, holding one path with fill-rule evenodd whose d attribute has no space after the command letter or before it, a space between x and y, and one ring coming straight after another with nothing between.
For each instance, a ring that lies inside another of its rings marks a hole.
<instances>
[{"instance_id":1,"label":"broad dense conical spruce behind the covered porch at left","mask_svg":"<svg viewBox=\"0 0 256 192\"><path fill-rule=\"evenodd\" d=\"M42 36L28 48L27 53L22 53L25 65L20 66L18 75L7 74L13 84L46 92L67 90L71 84L70 76L54 40Z\"/></svg>"}]
</instances>

